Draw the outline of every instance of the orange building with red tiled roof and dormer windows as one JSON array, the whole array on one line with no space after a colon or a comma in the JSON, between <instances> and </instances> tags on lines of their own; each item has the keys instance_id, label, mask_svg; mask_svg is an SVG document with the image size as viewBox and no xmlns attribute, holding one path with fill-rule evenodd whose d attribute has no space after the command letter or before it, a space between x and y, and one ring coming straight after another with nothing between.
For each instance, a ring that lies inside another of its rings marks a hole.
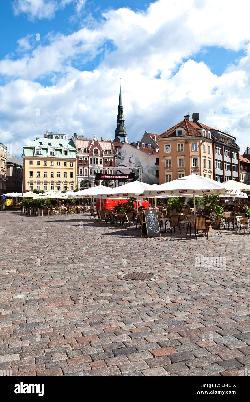
<instances>
[{"instance_id":1,"label":"orange building with red tiled roof and dormer windows","mask_svg":"<svg viewBox=\"0 0 250 402\"><path fill-rule=\"evenodd\" d=\"M190 121L190 116L157 137L160 184L189 174L214 180L211 127Z\"/></svg>"}]
</instances>

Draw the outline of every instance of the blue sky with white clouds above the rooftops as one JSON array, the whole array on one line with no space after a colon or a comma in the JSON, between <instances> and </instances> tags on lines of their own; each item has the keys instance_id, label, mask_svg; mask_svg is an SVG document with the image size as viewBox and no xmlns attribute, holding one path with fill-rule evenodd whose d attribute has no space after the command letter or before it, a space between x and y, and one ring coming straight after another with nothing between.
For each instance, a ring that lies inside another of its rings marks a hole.
<instances>
[{"instance_id":1,"label":"blue sky with white clouds above the rooftops","mask_svg":"<svg viewBox=\"0 0 250 402\"><path fill-rule=\"evenodd\" d=\"M119 77L131 141L187 111L243 148L250 129L247 0L1 2L0 141L49 131L114 138ZM242 13L242 10L244 12ZM39 40L37 40L39 39Z\"/></svg>"}]
</instances>

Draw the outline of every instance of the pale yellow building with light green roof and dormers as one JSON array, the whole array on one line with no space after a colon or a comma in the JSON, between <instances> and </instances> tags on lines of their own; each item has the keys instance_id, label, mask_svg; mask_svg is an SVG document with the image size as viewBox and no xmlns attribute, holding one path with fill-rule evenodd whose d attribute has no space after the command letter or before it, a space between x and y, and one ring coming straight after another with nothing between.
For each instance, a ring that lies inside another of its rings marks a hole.
<instances>
[{"instance_id":1,"label":"pale yellow building with light green roof and dormers","mask_svg":"<svg viewBox=\"0 0 250 402\"><path fill-rule=\"evenodd\" d=\"M24 190L74 190L75 144L66 133L49 133L23 147Z\"/></svg>"}]
</instances>

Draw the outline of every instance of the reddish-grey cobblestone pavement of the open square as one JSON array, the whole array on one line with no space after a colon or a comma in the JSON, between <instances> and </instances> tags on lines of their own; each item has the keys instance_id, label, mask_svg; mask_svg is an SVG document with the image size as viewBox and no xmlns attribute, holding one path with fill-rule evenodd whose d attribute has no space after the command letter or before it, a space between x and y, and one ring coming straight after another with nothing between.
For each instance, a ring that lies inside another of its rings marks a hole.
<instances>
[{"instance_id":1,"label":"reddish-grey cobblestone pavement of the open square","mask_svg":"<svg viewBox=\"0 0 250 402\"><path fill-rule=\"evenodd\" d=\"M18 212L0 212L0 230L0 369L27 376L250 369L246 234L147 239L82 215ZM207 256L221 257L219 267L214 260L206 267ZM132 272L154 277L122 278Z\"/></svg>"}]
</instances>

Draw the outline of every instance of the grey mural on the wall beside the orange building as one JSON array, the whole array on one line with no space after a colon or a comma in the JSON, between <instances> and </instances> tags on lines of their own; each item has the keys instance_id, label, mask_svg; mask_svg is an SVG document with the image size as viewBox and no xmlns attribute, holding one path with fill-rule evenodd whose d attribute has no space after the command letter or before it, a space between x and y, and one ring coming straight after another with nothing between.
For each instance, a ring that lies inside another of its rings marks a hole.
<instances>
[{"instance_id":1,"label":"grey mural on the wall beside the orange building","mask_svg":"<svg viewBox=\"0 0 250 402\"><path fill-rule=\"evenodd\" d=\"M156 158L159 154L148 154L132 147L129 144L123 144L118 152L115 164L115 174L135 173L135 179L139 178L139 171L136 168L142 169L142 181L148 184L159 183L159 178L156 177L159 165L156 165Z\"/></svg>"}]
</instances>

